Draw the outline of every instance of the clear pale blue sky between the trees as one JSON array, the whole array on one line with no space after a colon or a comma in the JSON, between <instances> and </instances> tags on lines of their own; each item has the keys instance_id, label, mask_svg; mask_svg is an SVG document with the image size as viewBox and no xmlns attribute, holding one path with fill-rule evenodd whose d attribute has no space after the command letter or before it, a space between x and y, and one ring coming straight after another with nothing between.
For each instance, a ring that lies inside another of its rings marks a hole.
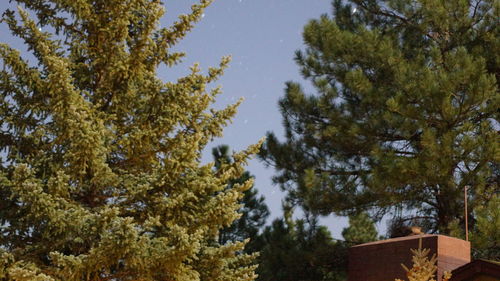
<instances>
[{"instance_id":1,"label":"clear pale blue sky between the trees","mask_svg":"<svg viewBox=\"0 0 500 281\"><path fill-rule=\"evenodd\" d=\"M3 2L0 10L8 5ZM195 0L164 2L163 27L169 26L179 14L188 13L196 3ZM207 70L217 66L223 56L232 56L229 68L216 82L223 92L214 107L222 108L240 98L244 101L224 136L207 146L202 162L212 161L211 150L220 144L239 151L258 142L268 131L283 136L278 100L284 95L285 82L299 81L310 89L293 60L295 51L304 48L303 27L309 20L330 11L330 0L215 0L205 10L202 20L174 47L186 53L183 63L159 71L165 81L175 81L196 62ZM24 51L22 43L8 34L5 24L0 25L0 41ZM247 170L255 176L255 187L266 198L271 210L270 223L282 215L283 193L272 184L274 171L257 159L250 161ZM337 239L347 226L346 218L335 216L322 218L320 222ZM379 232L384 229L381 224L377 227Z\"/></svg>"}]
</instances>

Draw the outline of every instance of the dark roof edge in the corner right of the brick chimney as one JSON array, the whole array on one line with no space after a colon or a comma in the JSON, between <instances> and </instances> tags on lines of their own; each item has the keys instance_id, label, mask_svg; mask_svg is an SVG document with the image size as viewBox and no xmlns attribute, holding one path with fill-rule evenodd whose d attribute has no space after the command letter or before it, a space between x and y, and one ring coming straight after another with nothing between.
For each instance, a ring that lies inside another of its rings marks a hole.
<instances>
[{"instance_id":1,"label":"dark roof edge in the corner right of the brick chimney","mask_svg":"<svg viewBox=\"0 0 500 281\"><path fill-rule=\"evenodd\" d=\"M500 262L475 260L451 272L451 281L468 281L477 275L487 275L500 280Z\"/></svg>"}]
</instances>

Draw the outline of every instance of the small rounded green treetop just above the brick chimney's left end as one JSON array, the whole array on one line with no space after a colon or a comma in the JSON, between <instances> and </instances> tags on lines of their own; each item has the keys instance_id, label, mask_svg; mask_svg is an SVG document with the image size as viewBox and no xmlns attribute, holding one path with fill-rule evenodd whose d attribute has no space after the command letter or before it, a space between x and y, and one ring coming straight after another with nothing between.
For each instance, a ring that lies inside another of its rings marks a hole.
<instances>
[{"instance_id":1,"label":"small rounded green treetop just above the brick chimney's left end","mask_svg":"<svg viewBox=\"0 0 500 281\"><path fill-rule=\"evenodd\" d=\"M367 213L349 216L349 226L342 230L342 237L348 243L363 244L378 240L378 232Z\"/></svg>"}]
</instances>

